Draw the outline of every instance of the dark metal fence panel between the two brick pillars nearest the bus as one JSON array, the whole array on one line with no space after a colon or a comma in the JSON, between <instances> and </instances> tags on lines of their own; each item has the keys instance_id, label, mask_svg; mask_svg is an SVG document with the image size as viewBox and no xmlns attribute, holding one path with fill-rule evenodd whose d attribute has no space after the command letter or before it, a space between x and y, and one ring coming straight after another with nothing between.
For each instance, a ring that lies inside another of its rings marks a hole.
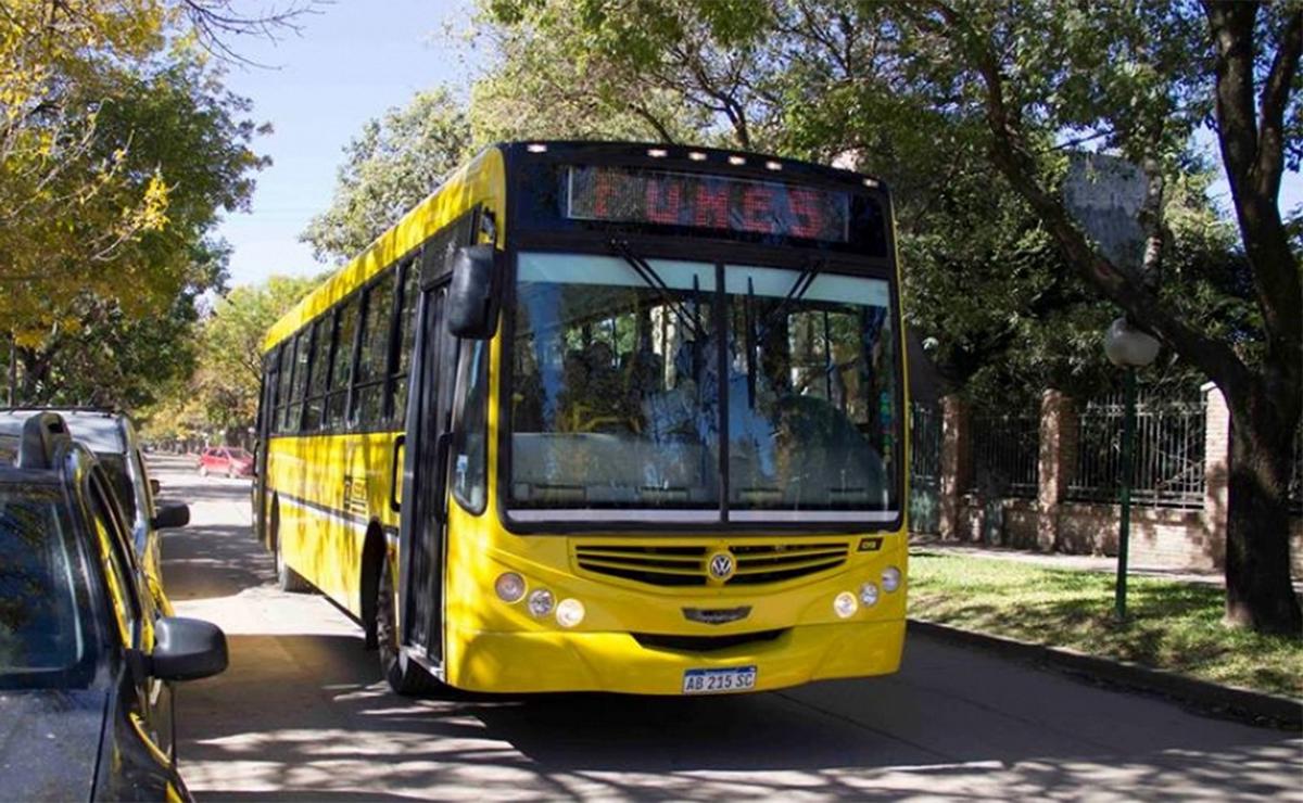
<instances>
[{"instance_id":1,"label":"dark metal fence panel between the two brick pillars nearest the bus","mask_svg":"<svg viewBox=\"0 0 1303 803\"><path fill-rule=\"evenodd\" d=\"M975 415L971 493L1036 498L1040 482L1040 416Z\"/></svg>"}]
</instances>

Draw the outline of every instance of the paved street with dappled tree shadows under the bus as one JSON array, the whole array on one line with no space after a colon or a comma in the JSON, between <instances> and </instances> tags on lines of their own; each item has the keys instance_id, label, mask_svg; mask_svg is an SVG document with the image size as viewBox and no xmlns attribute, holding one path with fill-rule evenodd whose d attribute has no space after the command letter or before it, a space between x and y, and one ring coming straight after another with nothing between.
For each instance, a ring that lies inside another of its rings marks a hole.
<instances>
[{"instance_id":1,"label":"paved street with dappled tree shadows under the bus","mask_svg":"<svg viewBox=\"0 0 1303 803\"><path fill-rule=\"evenodd\" d=\"M179 695L201 800L1303 800L1296 735L929 638L891 678L752 696L396 698L348 618L276 591L248 480L155 466L194 521L164 538L168 592L231 646L225 674Z\"/></svg>"}]
</instances>

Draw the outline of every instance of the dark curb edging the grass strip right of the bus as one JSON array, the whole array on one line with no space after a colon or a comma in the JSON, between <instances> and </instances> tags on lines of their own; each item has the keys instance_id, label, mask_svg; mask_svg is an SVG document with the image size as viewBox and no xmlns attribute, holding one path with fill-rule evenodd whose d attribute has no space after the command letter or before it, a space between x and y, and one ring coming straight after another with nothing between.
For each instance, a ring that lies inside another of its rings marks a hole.
<instances>
[{"instance_id":1,"label":"dark curb edging the grass strip right of the bus","mask_svg":"<svg viewBox=\"0 0 1303 803\"><path fill-rule=\"evenodd\" d=\"M1044 647L973 630L960 630L926 619L909 619L909 631L932 635L943 640L971 644L1010 657L1049 664L1075 674L1105 681L1117 686L1158 694L1199 708L1226 712L1238 718L1248 718L1260 725L1276 725L1287 730L1303 729L1303 701L1233 686L1220 686L1208 681L1149 669L1139 664L1115 661L1059 647ZM1264 722L1265 720L1265 722Z\"/></svg>"}]
</instances>

